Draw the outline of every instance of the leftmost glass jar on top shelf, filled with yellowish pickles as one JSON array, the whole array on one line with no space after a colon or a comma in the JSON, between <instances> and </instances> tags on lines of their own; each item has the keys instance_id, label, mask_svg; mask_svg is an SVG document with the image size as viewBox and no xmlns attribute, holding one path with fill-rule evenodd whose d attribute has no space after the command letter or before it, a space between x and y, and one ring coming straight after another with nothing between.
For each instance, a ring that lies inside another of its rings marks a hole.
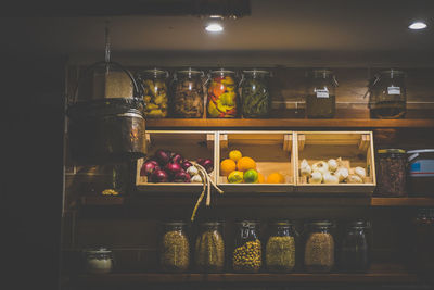
<instances>
[{"instance_id":1,"label":"leftmost glass jar on top shelf, filled with yellowish pickles","mask_svg":"<svg viewBox=\"0 0 434 290\"><path fill-rule=\"evenodd\" d=\"M153 68L138 74L143 90L144 116L151 118L166 117L168 111L169 72Z\"/></svg>"}]
</instances>

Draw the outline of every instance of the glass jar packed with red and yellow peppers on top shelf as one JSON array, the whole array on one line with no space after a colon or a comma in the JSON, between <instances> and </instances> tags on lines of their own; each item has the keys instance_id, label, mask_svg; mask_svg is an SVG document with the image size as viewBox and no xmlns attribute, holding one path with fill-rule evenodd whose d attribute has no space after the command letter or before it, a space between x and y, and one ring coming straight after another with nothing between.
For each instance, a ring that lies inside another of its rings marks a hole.
<instances>
[{"instance_id":1,"label":"glass jar packed with red and yellow peppers on top shelf","mask_svg":"<svg viewBox=\"0 0 434 290\"><path fill-rule=\"evenodd\" d=\"M235 73L219 70L209 73L207 116L232 118L239 116L239 96Z\"/></svg>"}]
</instances>

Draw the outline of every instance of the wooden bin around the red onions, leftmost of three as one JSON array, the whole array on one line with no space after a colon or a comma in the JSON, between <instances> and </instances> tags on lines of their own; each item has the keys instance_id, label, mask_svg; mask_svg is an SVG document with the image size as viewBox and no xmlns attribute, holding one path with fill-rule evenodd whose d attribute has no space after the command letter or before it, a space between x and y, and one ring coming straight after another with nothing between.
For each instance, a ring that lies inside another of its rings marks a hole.
<instances>
[{"instance_id":1,"label":"wooden bin around the red onions, leftmost of three","mask_svg":"<svg viewBox=\"0 0 434 290\"><path fill-rule=\"evenodd\" d=\"M188 130L149 130L146 131L148 156L156 150L170 150L181 154L184 159L195 161L199 157L215 161L215 131L188 131ZM145 176L140 176L140 168L146 159L137 162L136 186L139 191L156 192L201 192L202 182L148 182ZM216 168L216 166L215 166ZM210 174L216 179L216 169Z\"/></svg>"}]
</instances>

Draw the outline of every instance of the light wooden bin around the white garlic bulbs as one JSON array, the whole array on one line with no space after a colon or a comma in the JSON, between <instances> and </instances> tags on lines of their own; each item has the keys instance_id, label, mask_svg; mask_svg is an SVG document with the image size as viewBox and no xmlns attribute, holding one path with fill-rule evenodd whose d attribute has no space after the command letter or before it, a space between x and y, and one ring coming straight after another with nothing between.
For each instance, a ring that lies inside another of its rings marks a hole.
<instances>
[{"instance_id":1,"label":"light wooden bin around the white garlic bulbs","mask_svg":"<svg viewBox=\"0 0 434 290\"><path fill-rule=\"evenodd\" d=\"M295 135L298 192L372 194L376 185L372 131L298 131ZM311 166L318 161L339 157L347 168L361 166L366 169L363 184L308 184L307 177L301 176L304 159Z\"/></svg>"}]
</instances>

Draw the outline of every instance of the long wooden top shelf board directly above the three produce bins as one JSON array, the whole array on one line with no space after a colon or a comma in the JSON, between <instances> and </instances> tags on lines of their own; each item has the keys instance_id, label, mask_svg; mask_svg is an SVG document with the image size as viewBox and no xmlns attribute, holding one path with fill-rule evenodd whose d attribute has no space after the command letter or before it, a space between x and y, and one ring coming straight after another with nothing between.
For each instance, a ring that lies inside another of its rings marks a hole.
<instances>
[{"instance_id":1,"label":"long wooden top shelf board directly above the three produce bins","mask_svg":"<svg viewBox=\"0 0 434 290\"><path fill-rule=\"evenodd\" d=\"M427 119L365 119L365 118L149 118L148 129L162 128L434 128Z\"/></svg>"}]
</instances>

